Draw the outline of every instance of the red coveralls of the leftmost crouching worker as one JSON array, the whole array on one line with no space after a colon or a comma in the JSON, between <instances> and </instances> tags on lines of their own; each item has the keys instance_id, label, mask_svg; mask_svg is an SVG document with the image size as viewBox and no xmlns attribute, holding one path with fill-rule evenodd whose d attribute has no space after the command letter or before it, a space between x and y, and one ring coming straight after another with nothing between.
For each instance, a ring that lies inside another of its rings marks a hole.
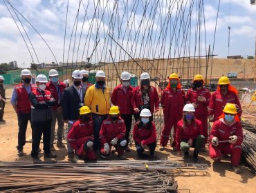
<instances>
[{"instance_id":1,"label":"red coveralls of the leftmost crouching worker","mask_svg":"<svg viewBox=\"0 0 256 193\"><path fill-rule=\"evenodd\" d=\"M93 141L93 121L76 121L66 136L71 147L76 151L78 156L88 161L97 160L93 150L84 151L84 143Z\"/></svg>"}]
</instances>

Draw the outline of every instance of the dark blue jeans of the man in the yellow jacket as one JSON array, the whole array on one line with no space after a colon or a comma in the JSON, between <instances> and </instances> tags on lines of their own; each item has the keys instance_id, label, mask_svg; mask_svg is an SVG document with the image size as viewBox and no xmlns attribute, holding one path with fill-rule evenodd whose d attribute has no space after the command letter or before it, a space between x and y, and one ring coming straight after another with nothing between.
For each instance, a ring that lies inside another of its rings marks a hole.
<instances>
[{"instance_id":1,"label":"dark blue jeans of the man in the yellow jacket","mask_svg":"<svg viewBox=\"0 0 256 193\"><path fill-rule=\"evenodd\" d=\"M94 114L93 116L93 129L94 129L94 143L93 143L93 150L100 150L100 127L102 122L107 119L108 114Z\"/></svg>"}]
</instances>

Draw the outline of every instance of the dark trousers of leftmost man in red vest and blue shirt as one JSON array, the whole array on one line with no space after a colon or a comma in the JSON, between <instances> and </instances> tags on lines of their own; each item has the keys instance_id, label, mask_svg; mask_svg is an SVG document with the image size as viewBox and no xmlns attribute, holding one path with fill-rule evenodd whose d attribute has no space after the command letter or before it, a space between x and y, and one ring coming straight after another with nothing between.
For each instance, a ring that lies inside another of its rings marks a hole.
<instances>
[{"instance_id":1,"label":"dark trousers of leftmost man in red vest and blue shirt","mask_svg":"<svg viewBox=\"0 0 256 193\"><path fill-rule=\"evenodd\" d=\"M17 150L23 150L23 146L26 144L26 130L28 127L28 121L31 121L31 113L19 112L17 115L19 125Z\"/></svg>"}]
</instances>

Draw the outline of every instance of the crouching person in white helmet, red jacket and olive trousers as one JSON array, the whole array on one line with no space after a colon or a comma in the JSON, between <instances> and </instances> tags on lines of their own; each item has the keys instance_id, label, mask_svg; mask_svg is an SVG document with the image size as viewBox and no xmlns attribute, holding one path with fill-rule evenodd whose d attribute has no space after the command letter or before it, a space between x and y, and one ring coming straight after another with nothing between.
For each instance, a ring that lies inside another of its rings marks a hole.
<instances>
[{"instance_id":1,"label":"crouching person in white helmet, red jacket and olive trousers","mask_svg":"<svg viewBox=\"0 0 256 193\"><path fill-rule=\"evenodd\" d=\"M194 119L194 106L187 104L183 108L183 119L178 122L176 130L177 154L184 152L184 160L189 160L190 147L194 148L193 160L199 162L198 154L204 144L203 125L201 121Z\"/></svg>"}]
</instances>

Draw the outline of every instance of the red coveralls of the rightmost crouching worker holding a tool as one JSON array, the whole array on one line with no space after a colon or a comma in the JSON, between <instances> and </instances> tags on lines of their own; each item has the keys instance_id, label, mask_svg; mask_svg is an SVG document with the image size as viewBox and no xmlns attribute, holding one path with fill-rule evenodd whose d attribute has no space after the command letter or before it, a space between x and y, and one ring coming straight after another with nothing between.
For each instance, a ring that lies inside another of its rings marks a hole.
<instances>
[{"instance_id":1,"label":"red coveralls of the rightmost crouching worker holding a tool","mask_svg":"<svg viewBox=\"0 0 256 193\"><path fill-rule=\"evenodd\" d=\"M215 121L212 125L212 131L210 132L210 141L216 136L219 141L230 140L232 135L237 136L237 142L231 143L219 143L216 147L210 142L209 152L211 159L220 159L221 154L231 154L231 164L237 166L241 157L241 143L243 142L243 129L239 121L233 121L231 125L226 125L225 121L221 118Z\"/></svg>"}]
</instances>

